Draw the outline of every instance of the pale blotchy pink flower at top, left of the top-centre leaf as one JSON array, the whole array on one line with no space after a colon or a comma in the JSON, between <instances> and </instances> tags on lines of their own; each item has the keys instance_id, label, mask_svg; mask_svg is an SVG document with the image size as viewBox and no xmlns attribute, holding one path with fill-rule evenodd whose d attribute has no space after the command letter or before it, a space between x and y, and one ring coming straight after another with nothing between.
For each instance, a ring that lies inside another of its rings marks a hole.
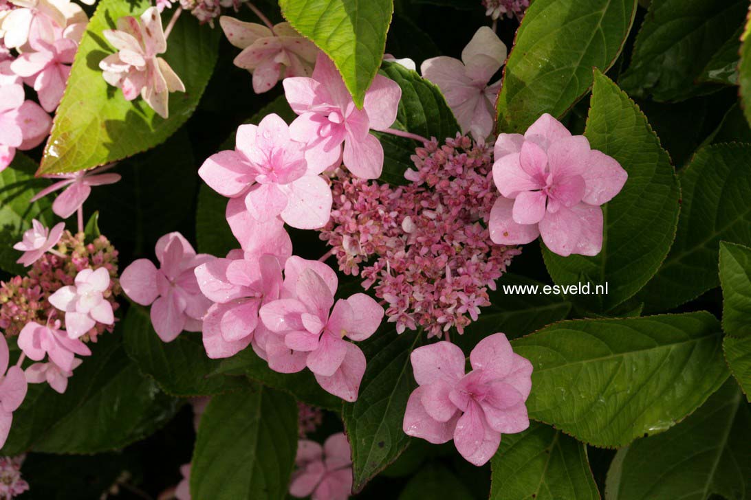
<instances>
[{"instance_id":1,"label":"pale blotchy pink flower at top, left of the top-centre leaf","mask_svg":"<svg viewBox=\"0 0 751 500\"><path fill-rule=\"evenodd\" d=\"M253 73L256 94L269 91L280 79L310 76L313 72L318 47L301 37L288 22L279 22L273 31L230 16L220 17L219 24L230 43L243 49L234 64Z\"/></svg>"}]
</instances>

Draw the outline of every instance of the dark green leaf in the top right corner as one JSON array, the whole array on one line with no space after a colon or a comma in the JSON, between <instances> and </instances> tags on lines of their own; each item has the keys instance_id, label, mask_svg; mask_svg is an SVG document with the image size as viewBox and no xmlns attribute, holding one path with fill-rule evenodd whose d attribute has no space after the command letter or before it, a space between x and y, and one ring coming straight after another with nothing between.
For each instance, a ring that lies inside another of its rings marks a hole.
<instances>
[{"instance_id":1,"label":"dark green leaf in the top right corner","mask_svg":"<svg viewBox=\"0 0 751 500\"><path fill-rule=\"evenodd\" d=\"M695 85L704 67L743 19L746 0L654 0L631 65L620 78L635 97L683 100L712 90Z\"/></svg>"}]
</instances>

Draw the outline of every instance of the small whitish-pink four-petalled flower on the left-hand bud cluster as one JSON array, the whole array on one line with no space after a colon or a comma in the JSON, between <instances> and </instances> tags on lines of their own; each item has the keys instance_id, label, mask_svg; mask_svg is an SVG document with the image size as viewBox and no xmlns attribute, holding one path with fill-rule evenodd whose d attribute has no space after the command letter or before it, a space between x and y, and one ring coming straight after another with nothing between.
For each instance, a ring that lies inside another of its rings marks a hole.
<instances>
[{"instance_id":1,"label":"small whitish-pink four-petalled flower on the left-hand bud cluster","mask_svg":"<svg viewBox=\"0 0 751 500\"><path fill-rule=\"evenodd\" d=\"M63 286L47 299L54 307L65 312L68 337L77 339L98 322L113 325L115 315L112 304L104 298L104 292L110 288L110 273L107 269L83 269L76 275L74 283L72 286Z\"/></svg>"}]
</instances>

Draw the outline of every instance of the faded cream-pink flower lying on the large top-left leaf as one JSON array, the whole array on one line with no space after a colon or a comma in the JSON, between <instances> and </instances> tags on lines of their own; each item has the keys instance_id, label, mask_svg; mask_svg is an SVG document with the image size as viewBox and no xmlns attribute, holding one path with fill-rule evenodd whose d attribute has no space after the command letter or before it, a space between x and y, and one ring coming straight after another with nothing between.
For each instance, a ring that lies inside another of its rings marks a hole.
<instances>
[{"instance_id":1,"label":"faded cream-pink flower lying on the large top-left leaf","mask_svg":"<svg viewBox=\"0 0 751 500\"><path fill-rule=\"evenodd\" d=\"M184 92L185 85L167 61L157 57L167 51L157 7L146 9L140 19L121 17L117 29L104 30L104 37L119 51L99 63L107 83L121 88L126 100L140 94L158 115L167 118L170 92Z\"/></svg>"}]
</instances>

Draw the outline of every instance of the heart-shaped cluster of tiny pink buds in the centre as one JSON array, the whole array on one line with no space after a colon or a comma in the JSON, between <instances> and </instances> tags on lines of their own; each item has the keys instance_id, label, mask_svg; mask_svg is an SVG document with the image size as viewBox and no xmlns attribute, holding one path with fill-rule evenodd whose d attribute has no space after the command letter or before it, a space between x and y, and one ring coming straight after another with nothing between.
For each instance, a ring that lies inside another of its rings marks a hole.
<instances>
[{"instance_id":1,"label":"heart-shaped cluster of tiny pink buds in the centre","mask_svg":"<svg viewBox=\"0 0 751 500\"><path fill-rule=\"evenodd\" d=\"M485 227L497 196L489 148L465 136L440 147L433 139L412 160L405 187L339 172L321 239L340 270L360 274L385 299L397 331L461 333L490 304L487 289L520 250L493 244Z\"/></svg>"}]
</instances>

